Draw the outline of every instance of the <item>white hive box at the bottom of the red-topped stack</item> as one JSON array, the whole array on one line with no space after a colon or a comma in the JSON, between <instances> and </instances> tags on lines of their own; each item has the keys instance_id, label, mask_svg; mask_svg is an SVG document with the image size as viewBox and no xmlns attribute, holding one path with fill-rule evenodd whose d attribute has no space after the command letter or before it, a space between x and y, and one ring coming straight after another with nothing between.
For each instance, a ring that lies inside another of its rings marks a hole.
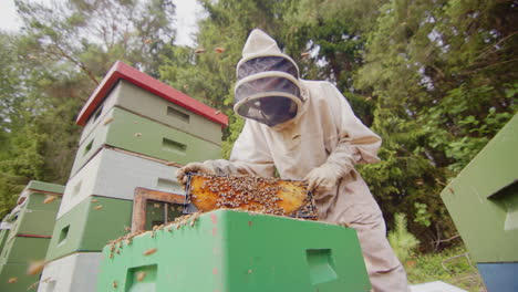
<instances>
[{"instance_id":1,"label":"white hive box at the bottom of the red-topped stack","mask_svg":"<svg viewBox=\"0 0 518 292\"><path fill-rule=\"evenodd\" d=\"M95 291L102 258L101 252L83 252L48 263L38 292Z\"/></svg>"}]
</instances>

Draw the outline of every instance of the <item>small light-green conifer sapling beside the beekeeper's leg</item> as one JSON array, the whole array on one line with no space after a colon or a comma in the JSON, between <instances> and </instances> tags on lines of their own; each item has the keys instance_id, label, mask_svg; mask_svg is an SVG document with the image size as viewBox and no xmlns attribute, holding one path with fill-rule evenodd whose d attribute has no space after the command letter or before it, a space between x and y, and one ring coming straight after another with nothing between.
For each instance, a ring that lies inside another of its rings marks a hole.
<instances>
[{"instance_id":1,"label":"small light-green conifer sapling beside the beekeeper's leg","mask_svg":"<svg viewBox=\"0 0 518 292\"><path fill-rule=\"evenodd\" d=\"M419 241L406 229L406 216L404 213L394 215L394 230L388 232L388 242L394 253L401 262L414 254L415 248Z\"/></svg>"}]
</instances>

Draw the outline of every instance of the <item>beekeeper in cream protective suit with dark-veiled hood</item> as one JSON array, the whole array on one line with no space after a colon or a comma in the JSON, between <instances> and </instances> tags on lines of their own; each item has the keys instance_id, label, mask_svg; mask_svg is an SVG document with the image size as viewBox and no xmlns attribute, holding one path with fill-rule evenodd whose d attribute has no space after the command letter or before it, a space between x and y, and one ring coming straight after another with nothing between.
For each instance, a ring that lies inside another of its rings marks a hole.
<instances>
[{"instance_id":1,"label":"beekeeper in cream protective suit with dark-veiled hood","mask_svg":"<svg viewBox=\"0 0 518 292\"><path fill-rule=\"evenodd\" d=\"M253 30L237 65L235 112L246 117L230 160L185 166L188 171L308 179L319 219L354 228L376 292L408 291L386 240L382 212L355 164L376 163L381 138L354 115L329 82L299 79L299 69L265 32Z\"/></svg>"}]
</instances>

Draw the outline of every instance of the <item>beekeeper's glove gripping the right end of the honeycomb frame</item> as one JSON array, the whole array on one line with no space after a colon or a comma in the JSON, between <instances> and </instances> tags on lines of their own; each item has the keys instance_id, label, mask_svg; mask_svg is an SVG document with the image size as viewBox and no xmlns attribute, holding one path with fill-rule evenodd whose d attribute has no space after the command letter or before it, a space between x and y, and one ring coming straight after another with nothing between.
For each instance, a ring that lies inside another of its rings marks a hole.
<instances>
[{"instance_id":1,"label":"beekeeper's glove gripping the right end of the honeycomb frame","mask_svg":"<svg viewBox=\"0 0 518 292\"><path fill-rule=\"evenodd\" d=\"M329 163L313 168L304 178L308 180L308 190L317 194L331 191L346 173L343 167Z\"/></svg>"}]
</instances>

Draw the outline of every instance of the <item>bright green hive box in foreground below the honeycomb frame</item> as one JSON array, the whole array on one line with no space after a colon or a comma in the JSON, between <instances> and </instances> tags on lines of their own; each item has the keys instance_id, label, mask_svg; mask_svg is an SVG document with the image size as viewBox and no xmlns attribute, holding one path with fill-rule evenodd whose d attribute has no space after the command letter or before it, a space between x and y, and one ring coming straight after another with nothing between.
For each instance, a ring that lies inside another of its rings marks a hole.
<instances>
[{"instance_id":1,"label":"bright green hive box in foreground below the honeycomb frame","mask_svg":"<svg viewBox=\"0 0 518 292\"><path fill-rule=\"evenodd\" d=\"M103 253L97 291L371 289L353 229L235 210L147 232Z\"/></svg>"}]
</instances>

